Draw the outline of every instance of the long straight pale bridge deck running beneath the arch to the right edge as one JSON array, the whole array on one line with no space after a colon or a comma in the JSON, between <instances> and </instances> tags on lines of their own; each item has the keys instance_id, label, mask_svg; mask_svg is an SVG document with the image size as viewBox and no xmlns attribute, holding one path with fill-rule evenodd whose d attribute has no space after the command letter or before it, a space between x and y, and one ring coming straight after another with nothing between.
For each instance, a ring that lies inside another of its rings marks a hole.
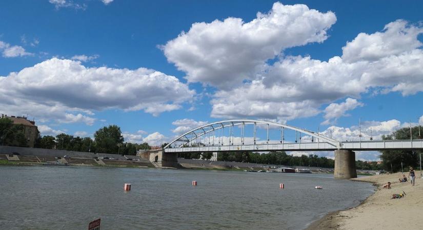
<instances>
[{"instance_id":1,"label":"long straight pale bridge deck running beneath the arch to the right edge","mask_svg":"<svg viewBox=\"0 0 423 230\"><path fill-rule=\"evenodd\" d=\"M200 147L165 148L167 153L178 152L222 152L222 151L335 151L348 149L351 151L381 150L418 150L423 149L423 140L385 140L385 141L353 141L353 142L320 142L320 143L281 143L256 145L210 145Z\"/></svg>"}]
</instances>

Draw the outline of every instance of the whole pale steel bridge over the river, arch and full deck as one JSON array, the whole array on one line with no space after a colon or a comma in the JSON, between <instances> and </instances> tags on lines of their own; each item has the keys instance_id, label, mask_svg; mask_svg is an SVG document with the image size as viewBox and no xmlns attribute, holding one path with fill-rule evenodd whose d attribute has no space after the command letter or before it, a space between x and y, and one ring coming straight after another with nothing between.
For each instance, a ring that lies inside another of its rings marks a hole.
<instances>
[{"instance_id":1,"label":"whole pale steel bridge over the river, arch and full deck","mask_svg":"<svg viewBox=\"0 0 423 230\"><path fill-rule=\"evenodd\" d=\"M253 126L252 143L246 143L246 126ZM240 129L240 142L235 143L234 129ZM265 142L257 139L257 127L267 129ZM278 143L270 143L269 129L280 130ZM228 130L229 129L229 130ZM225 136L225 130L227 134ZM285 141L285 130L295 131L295 142ZM311 142L301 143L301 133L311 136ZM216 136L217 134L217 136ZM299 142L297 142L299 134ZM333 151L384 150L384 149L423 149L423 140L352 141L340 142L307 129L269 121L236 119L209 123L194 128L174 139L164 148L164 152L218 152L218 151Z\"/></svg>"}]
</instances>

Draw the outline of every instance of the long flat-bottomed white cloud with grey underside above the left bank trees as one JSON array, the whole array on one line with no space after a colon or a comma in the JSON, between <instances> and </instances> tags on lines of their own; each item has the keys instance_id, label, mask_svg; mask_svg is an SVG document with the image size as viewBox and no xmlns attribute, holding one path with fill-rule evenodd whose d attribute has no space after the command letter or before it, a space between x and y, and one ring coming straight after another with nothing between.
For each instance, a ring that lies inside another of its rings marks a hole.
<instances>
[{"instance_id":1,"label":"long flat-bottomed white cloud with grey underside above the left bank trees","mask_svg":"<svg viewBox=\"0 0 423 230\"><path fill-rule=\"evenodd\" d=\"M144 110L157 116L192 100L194 90L173 76L138 68L85 67L52 58L0 77L0 111L91 125L93 111Z\"/></svg>"}]
</instances>

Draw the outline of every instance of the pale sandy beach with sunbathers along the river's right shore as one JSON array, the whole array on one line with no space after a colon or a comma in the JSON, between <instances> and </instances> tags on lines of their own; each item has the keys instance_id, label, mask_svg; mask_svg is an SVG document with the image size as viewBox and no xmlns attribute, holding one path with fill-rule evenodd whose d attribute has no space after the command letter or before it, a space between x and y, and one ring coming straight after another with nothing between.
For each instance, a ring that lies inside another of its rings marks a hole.
<instances>
[{"instance_id":1,"label":"pale sandy beach with sunbathers along the river's right shore","mask_svg":"<svg viewBox=\"0 0 423 230\"><path fill-rule=\"evenodd\" d=\"M402 173L352 179L372 182L377 191L357 207L330 213L307 229L422 229L423 179L420 171L415 172L414 187L409 181L398 181ZM404 174L408 176L408 172ZM388 181L392 189L382 188ZM403 191L407 194L404 198L391 199L392 194Z\"/></svg>"}]
</instances>

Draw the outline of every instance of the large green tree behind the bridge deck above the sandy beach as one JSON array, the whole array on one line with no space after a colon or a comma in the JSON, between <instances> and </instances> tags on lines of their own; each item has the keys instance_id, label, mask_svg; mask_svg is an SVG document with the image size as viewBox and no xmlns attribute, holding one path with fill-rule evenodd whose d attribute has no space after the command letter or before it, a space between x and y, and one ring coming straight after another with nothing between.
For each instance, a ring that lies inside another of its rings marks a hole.
<instances>
[{"instance_id":1,"label":"large green tree behind the bridge deck above the sandy beach","mask_svg":"<svg viewBox=\"0 0 423 230\"><path fill-rule=\"evenodd\" d=\"M413 139L418 139L418 126L411 129ZM410 140L410 128L402 128L394 131L389 135L382 135L383 140ZM404 168L416 167L418 163L418 155L422 151L410 150L385 150L381 151L382 166L385 170L394 172L401 170L401 163Z\"/></svg>"}]
</instances>

